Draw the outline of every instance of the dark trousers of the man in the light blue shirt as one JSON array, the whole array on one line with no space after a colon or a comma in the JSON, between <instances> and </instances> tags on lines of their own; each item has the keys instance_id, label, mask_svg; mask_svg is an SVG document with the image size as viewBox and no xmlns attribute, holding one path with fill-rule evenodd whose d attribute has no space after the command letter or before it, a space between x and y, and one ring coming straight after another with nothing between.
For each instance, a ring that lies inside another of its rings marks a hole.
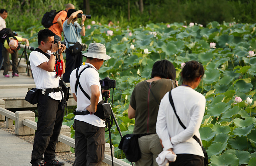
<instances>
[{"instance_id":1,"label":"dark trousers of the man in the light blue shirt","mask_svg":"<svg viewBox=\"0 0 256 166\"><path fill-rule=\"evenodd\" d=\"M62 80L65 82L70 82L69 77L71 72L81 66L83 61L83 56L82 52L76 54L76 55L71 55L69 49L66 49L66 68L65 68L65 73L63 74Z\"/></svg>"}]
</instances>

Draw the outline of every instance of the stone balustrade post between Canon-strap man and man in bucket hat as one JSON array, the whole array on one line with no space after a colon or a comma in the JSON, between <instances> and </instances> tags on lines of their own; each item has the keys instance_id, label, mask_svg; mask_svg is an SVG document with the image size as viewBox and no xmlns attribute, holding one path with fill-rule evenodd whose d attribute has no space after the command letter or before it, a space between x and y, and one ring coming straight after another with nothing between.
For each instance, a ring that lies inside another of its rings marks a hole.
<instances>
[{"instance_id":1,"label":"stone balustrade post between Canon-strap man and man in bucket hat","mask_svg":"<svg viewBox=\"0 0 256 166\"><path fill-rule=\"evenodd\" d=\"M71 136L70 134L70 127L67 125L62 125L61 126L61 133L60 135L63 134L65 136ZM70 146L58 141L56 144L56 152L69 152L70 151Z\"/></svg>"}]
</instances>

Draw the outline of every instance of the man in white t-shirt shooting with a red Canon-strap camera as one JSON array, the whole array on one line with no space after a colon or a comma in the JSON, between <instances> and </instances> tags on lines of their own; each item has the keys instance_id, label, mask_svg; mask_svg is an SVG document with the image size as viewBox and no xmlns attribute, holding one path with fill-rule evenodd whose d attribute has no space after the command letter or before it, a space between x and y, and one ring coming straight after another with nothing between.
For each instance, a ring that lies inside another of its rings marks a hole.
<instances>
[{"instance_id":1,"label":"man in white t-shirt shooting with a red Canon-strap camera","mask_svg":"<svg viewBox=\"0 0 256 166\"><path fill-rule=\"evenodd\" d=\"M58 50L57 43L54 44L54 36L55 33L51 30L40 30L37 34L38 48L29 56L35 85L37 89L40 89L37 103L37 130L30 162L32 166L65 165L55 158L55 145L60 135L64 110L60 109L62 95L59 81L61 78L57 77L54 71ZM64 73L65 63L62 52L66 46L60 42L58 44Z\"/></svg>"}]
</instances>

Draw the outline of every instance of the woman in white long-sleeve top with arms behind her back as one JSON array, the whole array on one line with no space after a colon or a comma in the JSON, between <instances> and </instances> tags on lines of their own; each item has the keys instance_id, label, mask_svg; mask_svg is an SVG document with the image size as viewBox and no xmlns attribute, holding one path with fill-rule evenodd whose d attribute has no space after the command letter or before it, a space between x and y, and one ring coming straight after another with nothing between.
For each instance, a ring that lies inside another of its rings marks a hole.
<instances>
[{"instance_id":1,"label":"woman in white long-sleeve top with arms behind her back","mask_svg":"<svg viewBox=\"0 0 256 166\"><path fill-rule=\"evenodd\" d=\"M171 90L174 107L184 129L169 102L169 92L161 100L156 122L156 133L162 140L164 150L177 155L170 166L200 166L204 164L204 153L199 143L199 128L205 113L205 97L194 89L199 85L204 67L196 61L186 62L182 70L182 85Z\"/></svg>"}]
</instances>

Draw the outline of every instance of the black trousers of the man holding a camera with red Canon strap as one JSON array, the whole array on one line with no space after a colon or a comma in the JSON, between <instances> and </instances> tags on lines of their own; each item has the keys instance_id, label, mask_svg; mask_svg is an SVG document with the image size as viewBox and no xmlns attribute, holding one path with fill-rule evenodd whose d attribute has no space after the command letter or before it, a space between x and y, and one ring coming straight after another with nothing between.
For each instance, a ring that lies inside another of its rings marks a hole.
<instances>
[{"instance_id":1,"label":"black trousers of the man holding a camera with red Canon strap","mask_svg":"<svg viewBox=\"0 0 256 166\"><path fill-rule=\"evenodd\" d=\"M38 95L38 121L34 137L31 164L37 166L42 160L55 158L55 145L60 135L64 110L60 110L60 101L48 95ZM44 157L43 157L44 155Z\"/></svg>"}]
</instances>

